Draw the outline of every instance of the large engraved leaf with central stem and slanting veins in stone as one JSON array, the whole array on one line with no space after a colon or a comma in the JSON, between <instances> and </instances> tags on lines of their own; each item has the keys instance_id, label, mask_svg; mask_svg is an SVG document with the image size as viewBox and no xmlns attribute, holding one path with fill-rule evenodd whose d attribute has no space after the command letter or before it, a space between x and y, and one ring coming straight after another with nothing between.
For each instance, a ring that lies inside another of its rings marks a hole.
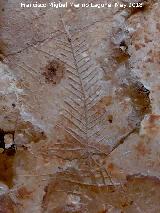
<instances>
[{"instance_id":1,"label":"large engraved leaf with central stem and slanting veins in stone","mask_svg":"<svg viewBox=\"0 0 160 213\"><path fill-rule=\"evenodd\" d=\"M63 54L72 62L67 68L69 85L66 89L70 96L65 100L66 108L63 115L71 123L68 131L87 142L101 131L98 125L102 121L102 116L97 117L93 109L102 97L100 76L95 62L90 58L84 35L79 32L71 35L64 22L63 26L68 39L67 50L61 42ZM98 138L98 142L102 140L103 138Z\"/></svg>"}]
</instances>

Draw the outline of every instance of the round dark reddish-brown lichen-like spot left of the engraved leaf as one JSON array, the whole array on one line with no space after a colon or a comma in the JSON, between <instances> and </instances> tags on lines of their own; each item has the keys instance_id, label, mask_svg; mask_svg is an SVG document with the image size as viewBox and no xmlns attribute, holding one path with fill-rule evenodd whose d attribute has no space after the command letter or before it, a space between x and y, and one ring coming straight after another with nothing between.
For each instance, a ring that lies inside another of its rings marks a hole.
<instances>
[{"instance_id":1,"label":"round dark reddish-brown lichen-like spot left of the engraved leaf","mask_svg":"<svg viewBox=\"0 0 160 213\"><path fill-rule=\"evenodd\" d=\"M64 76L64 65L56 60L50 61L42 74L47 83L58 84Z\"/></svg>"}]
</instances>

